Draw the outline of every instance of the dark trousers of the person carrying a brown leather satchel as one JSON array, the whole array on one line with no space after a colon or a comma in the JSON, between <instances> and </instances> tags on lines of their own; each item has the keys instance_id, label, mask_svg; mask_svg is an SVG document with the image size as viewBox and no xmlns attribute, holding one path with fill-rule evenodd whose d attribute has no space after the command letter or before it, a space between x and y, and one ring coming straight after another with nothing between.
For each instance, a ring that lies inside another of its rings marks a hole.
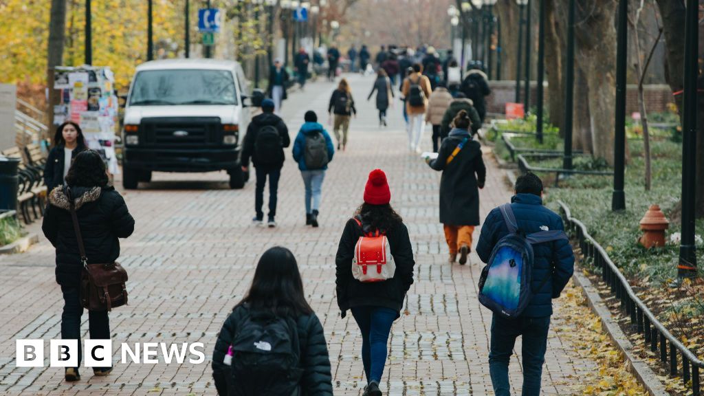
<instances>
[{"instance_id":1,"label":"dark trousers of the person carrying a brown leather satchel","mask_svg":"<svg viewBox=\"0 0 704 396\"><path fill-rule=\"evenodd\" d=\"M63 314L61 314L61 339L78 340L78 366L81 366L81 316L83 306L77 287L61 286ZM91 340L110 340L108 311L88 311L88 333Z\"/></svg>"}]
</instances>

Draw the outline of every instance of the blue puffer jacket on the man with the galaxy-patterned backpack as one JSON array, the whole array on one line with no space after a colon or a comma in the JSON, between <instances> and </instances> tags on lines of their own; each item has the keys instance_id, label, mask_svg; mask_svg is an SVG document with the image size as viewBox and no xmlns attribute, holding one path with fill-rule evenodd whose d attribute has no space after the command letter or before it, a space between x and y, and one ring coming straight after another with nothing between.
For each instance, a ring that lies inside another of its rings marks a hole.
<instances>
[{"instance_id":1,"label":"blue puffer jacket on the man with the galaxy-patterned backpack","mask_svg":"<svg viewBox=\"0 0 704 396\"><path fill-rule=\"evenodd\" d=\"M534 194L516 194L511 198L511 209L516 216L518 228L526 234L537 233L541 230L564 230L562 218L550 209L543 206L543 200ZM482 233L477 242L479 258L488 262L491 250L508 234L508 228L503 221L501 211L496 208L486 216ZM546 242L533 245L533 279L532 287L540 286L543 278L552 271L553 276L543 285L543 288L533 295L532 301L523 311L522 316L529 318L542 318L553 314L553 298L560 297L560 292L565 288L574 272L574 254L572 247L566 240Z\"/></svg>"}]
</instances>

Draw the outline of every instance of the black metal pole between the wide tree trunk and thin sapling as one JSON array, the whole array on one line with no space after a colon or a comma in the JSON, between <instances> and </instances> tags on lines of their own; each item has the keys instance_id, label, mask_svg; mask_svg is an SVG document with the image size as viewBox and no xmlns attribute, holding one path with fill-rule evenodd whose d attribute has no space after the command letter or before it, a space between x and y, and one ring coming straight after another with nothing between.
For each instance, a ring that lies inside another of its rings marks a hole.
<instances>
[{"instance_id":1,"label":"black metal pole between the wide tree trunk and thin sapling","mask_svg":"<svg viewBox=\"0 0 704 396\"><path fill-rule=\"evenodd\" d=\"M626 73L628 58L628 0L620 0L618 8L616 49L616 130L614 139L614 190L611 210L626 209L624 172L626 162Z\"/></svg>"}]
</instances>

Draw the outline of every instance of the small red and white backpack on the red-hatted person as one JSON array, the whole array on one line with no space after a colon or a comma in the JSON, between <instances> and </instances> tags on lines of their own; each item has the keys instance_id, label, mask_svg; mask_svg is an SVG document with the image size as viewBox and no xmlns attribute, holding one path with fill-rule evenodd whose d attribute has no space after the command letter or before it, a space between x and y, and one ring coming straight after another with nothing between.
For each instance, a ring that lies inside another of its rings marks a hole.
<instances>
[{"instance_id":1,"label":"small red and white backpack on the red-hatted person","mask_svg":"<svg viewBox=\"0 0 704 396\"><path fill-rule=\"evenodd\" d=\"M354 219L362 228L362 222ZM391 255L389 240L386 235L375 233L364 233L359 237L354 247L354 258L352 259L352 276L360 282L381 282L394 278L396 273L396 263Z\"/></svg>"}]
</instances>

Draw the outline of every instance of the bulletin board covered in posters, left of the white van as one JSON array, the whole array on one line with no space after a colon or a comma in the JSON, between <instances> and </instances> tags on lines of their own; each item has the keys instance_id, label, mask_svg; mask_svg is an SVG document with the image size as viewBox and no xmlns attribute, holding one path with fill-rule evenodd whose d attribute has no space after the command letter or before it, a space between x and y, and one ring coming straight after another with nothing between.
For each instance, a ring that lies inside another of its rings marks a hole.
<instances>
[{"instance_id":1,"label":"bulletin board covered in posters, left of the white van","mask_svg":"<svg viewBox=\"0 0 704 396\"><path fill-rule=\"evenodd\" d=\"M54 126L72 120L80 125L89 149L104 154L108 171L119 173L115 156L115 128L118 122L118 97L115 78L108 67L58 67L54 89L61 92L54 106Z\"/></svg>"}]
</instances>

